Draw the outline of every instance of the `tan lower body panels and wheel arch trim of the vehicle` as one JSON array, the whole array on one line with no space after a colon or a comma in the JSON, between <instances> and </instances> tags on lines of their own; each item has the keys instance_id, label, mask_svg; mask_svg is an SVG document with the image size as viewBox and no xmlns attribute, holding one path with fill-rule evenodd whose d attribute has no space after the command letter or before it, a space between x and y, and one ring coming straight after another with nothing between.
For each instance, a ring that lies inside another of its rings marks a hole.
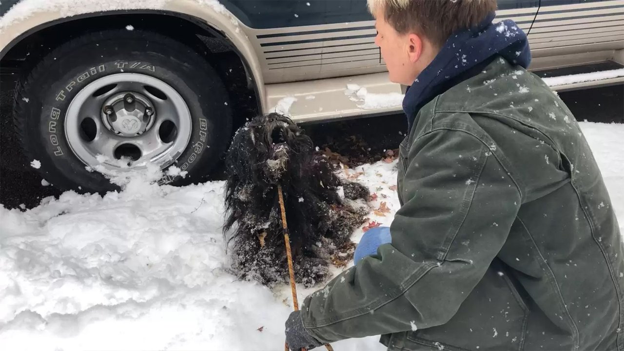
<instances>
[{"instance_id":1,"label":"tan lower body panels and wheel arch trim of the vehicle","mask_svg":"<svg viewBox=\"0 0 624 351\"><path fill-rule=\"evenodd\" d=\"M66 17L59 10L62 7L57 8L54 3L55 0L49 0L45 7L21 19L0 19L0 51L32 28ZM145 9L133 7L132 2L125 6L128 10ZM262 112L273 111L288 97L291 102L286 104L286 110L299 122L401 111L400 104L363 108L363 101L346 92L347 84L366 87L369 94L402 94L404 91L403 86L388 80L386 66L371 36L375 34L373 21L255 29L238 21L225 7L210 1L162 0L158 9L197 17L222 32L244 57L247 73L257 84ZM570 16L570 12L558 12L561 10L574 10L575 16L582 18L562 19ZM72 14L95 11L105 10L85 9ZM534 57L530 69L534 71L608 60L624 61L624 0L548 6L547 11L539 12L537 7L503 10L497 12L494 21L504 18L517 22L535 19L532 25L530 22L519 24L529 32ZM323 32L319 33L319 29ZM309 31L315 32L306 34ZM340 39L345 34L367 37ZM314 46L297 42L310 39L325 40L315 41ZM600 84L622 81L624 77L615 77ZM585 82L553 89L577 89L596 84ZM293 98L296 101L292 102Z\"/></svg>"}]
</instances>

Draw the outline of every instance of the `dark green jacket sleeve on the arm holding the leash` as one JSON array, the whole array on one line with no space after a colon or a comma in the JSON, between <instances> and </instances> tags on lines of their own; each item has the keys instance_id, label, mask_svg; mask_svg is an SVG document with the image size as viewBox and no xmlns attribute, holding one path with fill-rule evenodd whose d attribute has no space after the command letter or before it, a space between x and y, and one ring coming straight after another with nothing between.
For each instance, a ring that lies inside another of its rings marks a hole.
<instances>
[{"instance_id":1,"label":"dark green jacket sleeve on the arm holding the leash","mask_svg":"<svg viewBox=\"0 0 624 351\"><path fill-rule=\"evenodd\" d=\"M450 320L498 254L520 207L519 187L494 149L451 129L416 139L391 244L306 297L306 329L334 342Z\"/></svg>"}]
</instances>

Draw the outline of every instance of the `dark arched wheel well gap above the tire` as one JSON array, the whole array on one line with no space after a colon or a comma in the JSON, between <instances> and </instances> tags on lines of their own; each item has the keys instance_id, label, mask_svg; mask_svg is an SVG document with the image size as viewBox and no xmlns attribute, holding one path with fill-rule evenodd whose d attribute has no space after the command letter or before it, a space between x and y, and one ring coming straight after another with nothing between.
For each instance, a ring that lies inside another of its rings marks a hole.
<instances>
[{"instance_id":1,"label":"dark arched wheel well gap above the tire","mask_svg":"<svg viewBox=\"0 0 624 351\"><path fill-rule=\"evenodd\" d=\"M217 70L228 89L234 114L234 127L261 111L258 92L253 77L247 74L246 63L240 54L217 30L200 19L163 11L128 13L106 12L95 16L82 16L39 29L15 44L2 57L3 71L14 71L23 77L36 62L72 37L85 32L106 29L134 29L157 32L193 47ZM114 14L115 17L111 15Z\"/></svg>"}]
</instances>

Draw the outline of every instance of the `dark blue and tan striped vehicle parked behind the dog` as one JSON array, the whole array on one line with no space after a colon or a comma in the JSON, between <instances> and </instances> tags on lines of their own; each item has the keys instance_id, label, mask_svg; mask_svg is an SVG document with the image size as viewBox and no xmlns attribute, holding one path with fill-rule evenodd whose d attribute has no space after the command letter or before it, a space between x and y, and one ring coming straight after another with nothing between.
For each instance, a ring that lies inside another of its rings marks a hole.
<instances>
[{"instance_id":1,"label":"dark blue and tan striped vehicle parked behind the dog","mask_svg":"<svg viewBox=\"0 0 624 351\"><path fill-rule=\"evenodd\" d=\"M553 89L624 81L624 0L498 7L495 22L528 34L536 74L611 72ZM366 0L1 0L0 16L15 132L62 190L105 192L150 164L162 183L198 182L255 114L389 114L406 89L388 80Z\"/></svg>"}]
</instances>

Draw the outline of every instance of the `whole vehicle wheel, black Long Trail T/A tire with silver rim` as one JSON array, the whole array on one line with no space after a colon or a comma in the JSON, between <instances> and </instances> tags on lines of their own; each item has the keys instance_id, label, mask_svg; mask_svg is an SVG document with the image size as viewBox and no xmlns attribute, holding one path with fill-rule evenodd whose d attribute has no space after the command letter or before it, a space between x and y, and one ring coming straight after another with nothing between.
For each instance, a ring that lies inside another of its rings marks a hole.
<instances>
[{"instance_id":1,"label":"whole vehicle wheel, black Long Trail T/A tire with silver rim","mask_svg":"<svg viewBox=\"0 0 624 351\"><path fill-rule=\"evenodd\" d=\"M17 83L17 137L61 190L118 190L157 165L161 184L206 179L232 136L217 72L192 47L148 31L101 31L52 50Z\"/></svg>"}]
</instances>

